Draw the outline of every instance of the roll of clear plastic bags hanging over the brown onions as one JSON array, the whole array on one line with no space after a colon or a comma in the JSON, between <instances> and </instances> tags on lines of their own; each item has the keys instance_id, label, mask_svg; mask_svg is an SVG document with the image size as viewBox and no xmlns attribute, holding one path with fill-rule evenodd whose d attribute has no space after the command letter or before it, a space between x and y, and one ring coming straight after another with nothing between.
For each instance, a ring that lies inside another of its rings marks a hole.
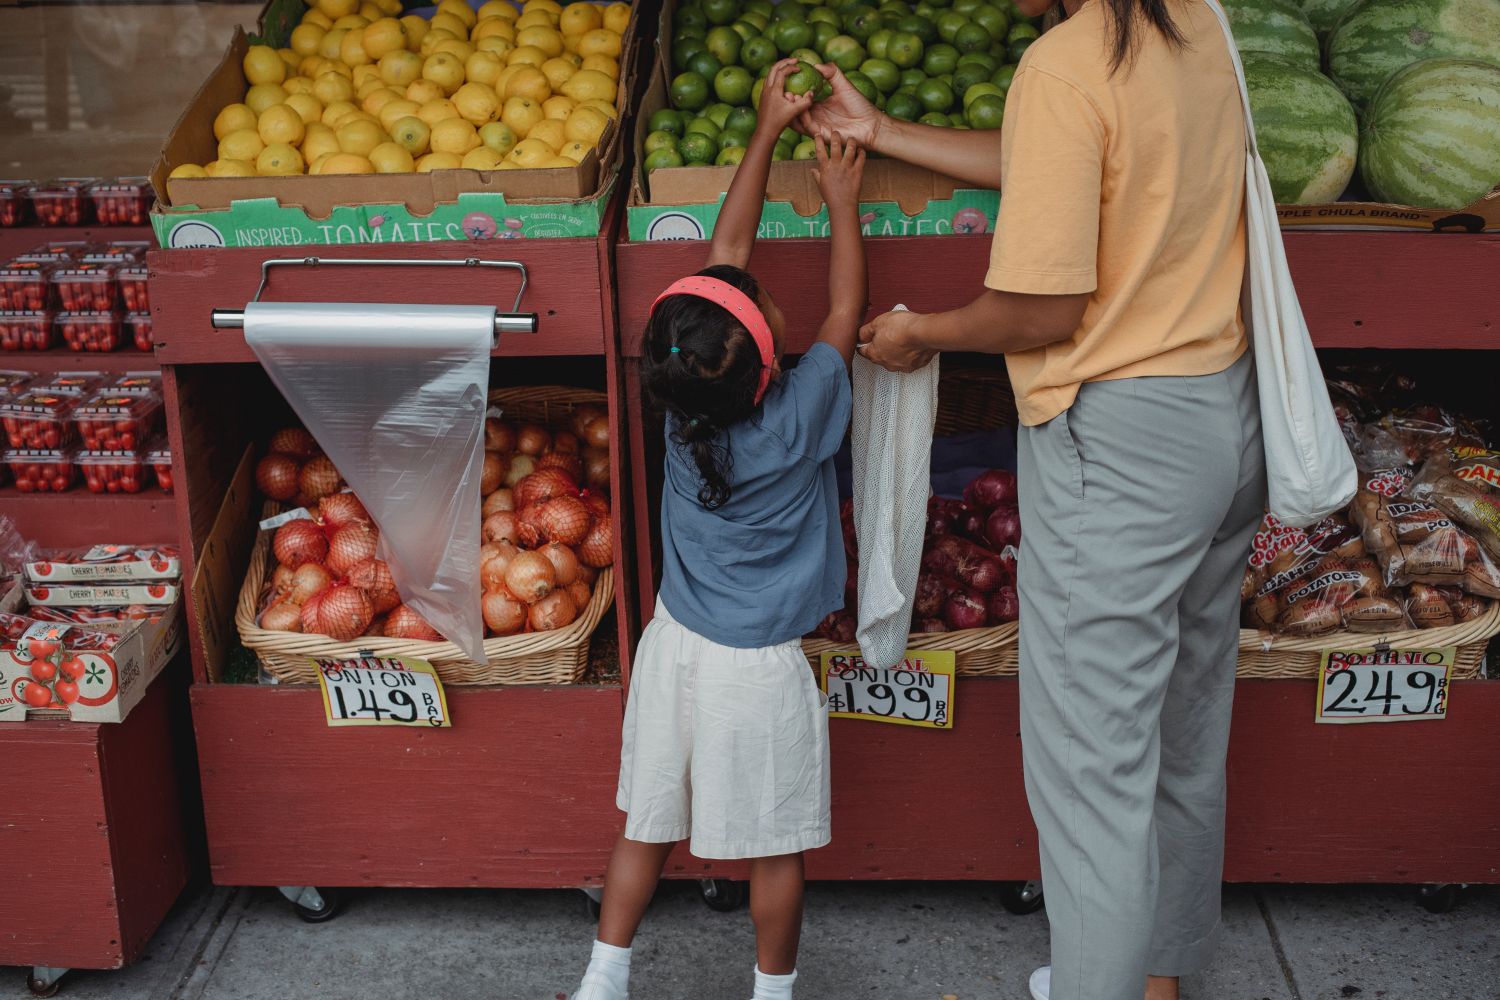
<instances>
[{"instance_id":1,"label":"roll of clear plastic bags hanging over the brown onions","mask_svg":"<svg viewBox=\"0 0 1500 1000\"><path fill-rule=\"evenodd\" d=\"M380 528L402 600L484 660L492 306L249 303L244 342Z\"/></svg>"}]
</instances>

